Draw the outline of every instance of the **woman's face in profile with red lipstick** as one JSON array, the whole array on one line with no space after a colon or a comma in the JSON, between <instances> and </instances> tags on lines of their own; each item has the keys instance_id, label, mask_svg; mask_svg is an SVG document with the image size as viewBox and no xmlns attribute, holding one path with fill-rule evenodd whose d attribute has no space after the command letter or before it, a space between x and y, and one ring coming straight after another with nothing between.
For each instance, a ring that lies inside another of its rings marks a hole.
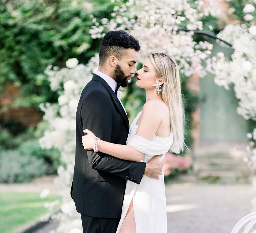
<instances>
[{"instance_id":1,"label":"woman's face in profile with red lipstick","mask_svg":"<svg viewBox=\"0 0 256 233\"><path fill-rule=\"evenodd\" d=\"M152 85L156 84L157 81L161 81L162 78L156 77L156 70L150 59L147 58L142 64L142 68L136 72L138 74L136 86L139 88L144 88L147 90L156 89L156 87L152 87Z\"/></svg>"}]
</instances>

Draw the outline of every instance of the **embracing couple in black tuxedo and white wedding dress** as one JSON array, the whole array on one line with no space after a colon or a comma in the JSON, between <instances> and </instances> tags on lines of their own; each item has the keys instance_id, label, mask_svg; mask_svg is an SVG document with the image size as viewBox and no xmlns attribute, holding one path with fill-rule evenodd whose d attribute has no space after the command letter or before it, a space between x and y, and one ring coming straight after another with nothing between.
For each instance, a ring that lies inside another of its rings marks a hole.
<instances>
[{"instance_id":1,"label":"embracing couple in black tuxedo and white wedding dress","mask_svg":"<svg viewBox=\"0 0 256 233\"><path fill-rule=\"evenodd\" d=\"M151 53L136 72L139 50L128 33L108 32L99 68L81 93L71 197L86 233L167 231L163 158L185 146L179 68L170 56ZM135 73L146 103L129 125L117 90Z\"/></svg>"}]
</instances>

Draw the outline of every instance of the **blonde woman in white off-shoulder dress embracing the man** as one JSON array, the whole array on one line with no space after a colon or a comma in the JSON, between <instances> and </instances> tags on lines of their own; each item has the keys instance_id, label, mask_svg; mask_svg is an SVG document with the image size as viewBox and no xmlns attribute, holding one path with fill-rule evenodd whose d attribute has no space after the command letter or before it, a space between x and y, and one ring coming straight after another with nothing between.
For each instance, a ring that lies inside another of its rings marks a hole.
<instances>
[{"instance_id":1,"label":"blonde woman in white off-shoulder dress embracing the man","mask_svg":"<svg viewBox=\"0 0 256 233\"><path fill-rule=\"evenodd\" d=\"M163 53L151 53L137 71L136 86L146 90L146 103L130 126L126 145L97 138L88 129L84 149L114 157L147 162L155 154L184 149L184 109L177 63ZM165 233L167 231L164 174L144 175L138 185L127 180L117 233Z\"/></svg>"}]
</instances>

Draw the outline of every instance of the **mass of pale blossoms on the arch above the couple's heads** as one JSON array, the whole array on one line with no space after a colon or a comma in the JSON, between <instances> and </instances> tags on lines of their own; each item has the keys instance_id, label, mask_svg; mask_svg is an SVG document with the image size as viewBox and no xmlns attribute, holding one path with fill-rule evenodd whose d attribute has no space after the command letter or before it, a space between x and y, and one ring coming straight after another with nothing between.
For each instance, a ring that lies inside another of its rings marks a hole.
<instances>
[{"instance_id":1,"label":"mass of pale blossoms on the arch above the couple's heads","mask_svg":"<svg viewBox=\"0 0 256 233\"><path fill-rule=\"evenodd\" d=\"M193 41L193 31L179 31L178 27L202 30L200 18L218 13L214 1L210 2L212 5L206 7L203 1L192 5L186 0L129 0L114 8L113 19L96 22L93 18L95 26L90 33L92 38L100 38L109 30L127 30L140 42L139 62L151 52L166 53L178 62L180 72L186 77L193 74L204 77L213 45Z\"/></svg>"}]
</instances>

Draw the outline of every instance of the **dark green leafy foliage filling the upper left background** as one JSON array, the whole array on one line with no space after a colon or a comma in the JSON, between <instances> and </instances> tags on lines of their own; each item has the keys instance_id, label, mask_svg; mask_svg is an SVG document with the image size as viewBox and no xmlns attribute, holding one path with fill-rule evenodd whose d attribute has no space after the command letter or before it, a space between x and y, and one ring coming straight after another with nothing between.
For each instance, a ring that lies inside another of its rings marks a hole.
<instances>
[{"instance_id":1,"label":"dark green leafy foliage filling the upper left background","mask_svg":"<svg viewBox=\"0 0 256 233\"><path fill-rule=\"evenodd\" d=\"M114 3L64 1L6 1L0 5L0 93L9 83L21 87L11 105L38 107L56 102L44 74L48 65L64 67L69 58L81 63L98 52L100 40L88 33L95 17L111 18Z\"/></svg>"}]
</instances>

